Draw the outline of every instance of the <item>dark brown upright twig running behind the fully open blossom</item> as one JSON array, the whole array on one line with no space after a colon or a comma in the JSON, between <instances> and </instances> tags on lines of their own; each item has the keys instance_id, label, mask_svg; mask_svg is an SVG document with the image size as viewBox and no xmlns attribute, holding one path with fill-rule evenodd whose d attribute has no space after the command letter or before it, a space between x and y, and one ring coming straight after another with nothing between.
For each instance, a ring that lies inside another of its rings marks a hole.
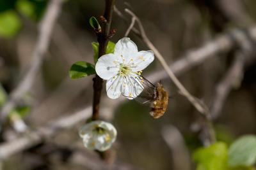
<instances>
[{"instance_id":1,"label":"dark brown upright twig running behind the fully open blossom","mask_svg":"<svg viewBox=\"0 0 256 170\"><path fill-rule=\"evenodd\" d=\"M106 0L104 16L101 17L102 30L96 32L97 40L99 42L99 57L106 54L106 48L110 38L110 27L112 22L113 8L115 0ZM98 75L93 78L93 112L92 120L99 119L100 96L102 91L103 80Z\"/></svg>"}]
</instances>

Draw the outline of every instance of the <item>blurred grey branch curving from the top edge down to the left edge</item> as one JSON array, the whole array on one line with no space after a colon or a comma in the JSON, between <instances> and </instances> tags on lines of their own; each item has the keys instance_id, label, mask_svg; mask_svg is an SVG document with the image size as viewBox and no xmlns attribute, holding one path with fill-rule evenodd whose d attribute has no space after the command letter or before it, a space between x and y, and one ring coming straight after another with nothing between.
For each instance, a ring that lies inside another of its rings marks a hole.
<instances>
[{"instance_id":1,"label":"blurred grey branch curving from the top edge down to the left edge","mask_svg":"<svg viewBox=\"0 0 256 170\"><path fill-rule=\"evenodd\" d=\"M62 3L62 0L51 0L49 2L44 18L40 23L39 37L35 45L35 50L32 54L33 60L31 61L28 72L25 74L24 78L22 78L19 85L11 92L10 99L1 109L2 123L4 122L8 113L15 108L17 102L22 99L22 96L28 92L33 85L36 74L38 73L44 59L44 54L47 52L47 48L51 40L52 30L60 13Z\"/></svg>"}]
</instances>

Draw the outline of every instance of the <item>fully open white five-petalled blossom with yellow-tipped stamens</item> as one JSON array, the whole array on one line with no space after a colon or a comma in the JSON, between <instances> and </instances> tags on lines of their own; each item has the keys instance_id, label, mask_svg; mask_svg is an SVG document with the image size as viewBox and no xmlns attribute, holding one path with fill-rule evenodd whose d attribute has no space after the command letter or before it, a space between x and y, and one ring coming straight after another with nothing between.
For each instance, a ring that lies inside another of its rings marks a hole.
<instances>
[{"instance_id":1,"label":"fully open white five-petalled blossom with yellow-tipped stamens","mask_svg":"<svg viewBox=\"0 0 256 170\"><path fill-rule=\"evenodd\" d=\"M115 45L115 52L102 55L95 70L107 80L107 95L111 99L123 96L134 99L143 91L141 71L154 60L152 51L140 51L130 38L122 38Z\"/></svg>"}]
</instances>

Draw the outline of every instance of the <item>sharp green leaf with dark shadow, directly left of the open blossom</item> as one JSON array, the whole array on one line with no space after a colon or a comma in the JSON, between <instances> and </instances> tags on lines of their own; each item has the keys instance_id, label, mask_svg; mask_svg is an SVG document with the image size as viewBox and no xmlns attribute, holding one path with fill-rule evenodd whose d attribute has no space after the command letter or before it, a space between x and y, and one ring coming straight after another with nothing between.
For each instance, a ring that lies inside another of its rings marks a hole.
<instances>
[{"instance_id":1,"label":"sharp green leaf with dark shadow, directly left of the open blossom","mask_svg":"<svg viewBox=\"0 0 256 170\"><path fill-rule=\"evenodd\" d=\"M75 62L69 70L69 76L72 79L82 78L85 76L90 76L92 74L95 74L95 68L93 64L85 61Z\"/></svg>"}]
</instances>

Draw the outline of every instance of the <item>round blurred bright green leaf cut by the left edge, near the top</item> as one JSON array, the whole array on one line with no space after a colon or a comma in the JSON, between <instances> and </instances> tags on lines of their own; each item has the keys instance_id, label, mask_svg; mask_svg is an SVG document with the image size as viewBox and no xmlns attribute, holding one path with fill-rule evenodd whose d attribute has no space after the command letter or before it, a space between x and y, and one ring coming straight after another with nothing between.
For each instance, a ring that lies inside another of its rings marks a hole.
<instances>
[{"instance_id":1,"label":"round blurred bright green leaf cut by the left edge, near the top","mask_svg":"<svg viewBox=\"0 0 256 170\"><path fill-rule=\"evenodd\" d=\"M8 10L0 13L0 36L11 38L21 27L20 19L15 11Z\"/></svg>"}]
</instances>

